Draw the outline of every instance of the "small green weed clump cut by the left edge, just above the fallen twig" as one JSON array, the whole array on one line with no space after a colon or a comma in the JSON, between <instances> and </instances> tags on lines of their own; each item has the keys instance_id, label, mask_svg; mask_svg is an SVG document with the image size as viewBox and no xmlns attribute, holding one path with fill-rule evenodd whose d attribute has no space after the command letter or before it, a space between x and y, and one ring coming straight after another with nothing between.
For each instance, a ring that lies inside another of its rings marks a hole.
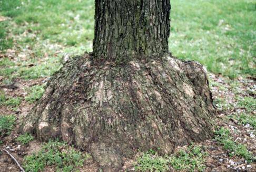
<instances>
[{"instance_id":1,"label":"small green weed clump cut by the left edge, just above the fallen twig","mask_svg":"<svg viewBox=\"0 0 256 172\"><path fill-rule=\"evenodd\" d=\"M0 115L0 137L11 134L16 117L14 115Z\"/></svg>"}]
</instances>

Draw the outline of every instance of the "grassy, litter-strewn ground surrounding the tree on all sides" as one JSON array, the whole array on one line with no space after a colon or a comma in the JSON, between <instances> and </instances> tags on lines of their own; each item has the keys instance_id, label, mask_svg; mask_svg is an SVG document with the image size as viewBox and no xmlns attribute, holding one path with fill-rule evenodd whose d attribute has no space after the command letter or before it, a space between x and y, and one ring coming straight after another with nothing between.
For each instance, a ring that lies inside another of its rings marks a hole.
<instances>
[{"instance_id":1,"label":"grassy, litter-strewn ground surrounding the tree on all sides","mask_svg":"<svg viewBox=\"0 0 256 172\"><path fill-rule=\"evenodd\" d=\"M256 170L255 5L250 0L172 1L170 50L208 69L218 109L215 136L168 157L157 150L139 152L123 170ZM27 171L96 171L84 151L62 141L40 143L18 130L49 77L68 58L92 50L93 16L93 0L0 1L0 148ZM72 157L64 154L68 150ZM84 157L83 163L75 163L77 157ZM0 171L18 171L3 151Z\"/></svg>"}]
</instances>

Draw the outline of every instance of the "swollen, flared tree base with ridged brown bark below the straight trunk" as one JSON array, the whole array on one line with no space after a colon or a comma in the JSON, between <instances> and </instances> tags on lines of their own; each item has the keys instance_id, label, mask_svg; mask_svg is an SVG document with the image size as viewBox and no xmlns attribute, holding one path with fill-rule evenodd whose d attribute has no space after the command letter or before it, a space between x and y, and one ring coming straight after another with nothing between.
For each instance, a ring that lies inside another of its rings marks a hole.
<instances>
[{"instance_id":1,"label":"swollen, flared tree base with ridged brown bark below the straight trunk","mask_svg":"<svg viewBox=\"0 0 256 172\"><path fill-rule=\"evenodd\" d=\"M85 149L105 171L137 149L170 154L211 137L215 112L202 65L170 54L125 66L90 59L74 57L51 78L23 132Z\"/></svg>"}]
</instances>

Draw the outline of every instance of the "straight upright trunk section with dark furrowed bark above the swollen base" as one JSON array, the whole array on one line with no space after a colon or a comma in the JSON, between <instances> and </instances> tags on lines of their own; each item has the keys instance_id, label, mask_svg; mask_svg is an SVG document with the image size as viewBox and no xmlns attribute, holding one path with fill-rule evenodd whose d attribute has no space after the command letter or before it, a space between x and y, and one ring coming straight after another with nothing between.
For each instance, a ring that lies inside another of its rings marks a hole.
<instances>
[{"instance_id":1,"label":"straight upright trunk section with dark furrowed bark above the swollen base","mask_svg":"<svg viewBox=\"0 0 256 172\"><path fill-rule=\"evenodd\" d=\"M170 0L96 0L94 57L125 63L168 52Z\"/></svg>"}]
</instances>

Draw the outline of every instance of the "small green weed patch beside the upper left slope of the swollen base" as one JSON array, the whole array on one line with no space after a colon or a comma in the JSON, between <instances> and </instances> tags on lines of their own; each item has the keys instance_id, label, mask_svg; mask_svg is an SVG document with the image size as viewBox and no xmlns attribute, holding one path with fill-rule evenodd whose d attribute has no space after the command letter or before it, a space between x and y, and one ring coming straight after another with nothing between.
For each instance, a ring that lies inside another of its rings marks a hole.
<instances>
[{"instance_id":1,"label":"small green weed patch beside the upper left slope of the swollen base","mask_svg":"<svg viewBox=\"0 0 256 172\"><path fill-rule=\"evenodd\" d=\"M44 87L42 85L35 85L28 89L28 95L25 97L25 100L32 104L36 100L40 99L44 93Z\"/></svg>"}]
</instances>

